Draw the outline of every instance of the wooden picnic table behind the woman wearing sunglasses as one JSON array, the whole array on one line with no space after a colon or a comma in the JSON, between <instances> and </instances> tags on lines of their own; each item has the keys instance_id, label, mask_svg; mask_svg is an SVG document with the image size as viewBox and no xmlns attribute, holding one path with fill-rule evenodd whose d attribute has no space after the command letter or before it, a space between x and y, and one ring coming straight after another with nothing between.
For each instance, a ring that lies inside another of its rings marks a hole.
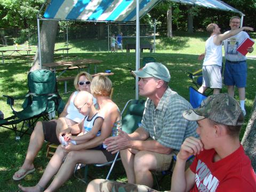
<instances>
[{"instance_id":1,"label":"wooden picnic table behind the woman wearing sunglasses","mask_svg":"<svg viewBox=\"0 0 256 192\"><path fill-rule=\"evenodd\" d=\"M70 60L70 61L58 61L58 62L51 62L51 63L44 63L43 66L48 67L49 69L53 69L56 71L58 68L64 68L63 71L60 73L61 76L65 73L69 67L76 66L77 68L83 68L84 66L88 66L88 73L90 73L90 65L94 65L94 73L97 73L97 64L101 63L101 60L97 59L79 59L79 60Z\"/></svg>"}]
</instances>

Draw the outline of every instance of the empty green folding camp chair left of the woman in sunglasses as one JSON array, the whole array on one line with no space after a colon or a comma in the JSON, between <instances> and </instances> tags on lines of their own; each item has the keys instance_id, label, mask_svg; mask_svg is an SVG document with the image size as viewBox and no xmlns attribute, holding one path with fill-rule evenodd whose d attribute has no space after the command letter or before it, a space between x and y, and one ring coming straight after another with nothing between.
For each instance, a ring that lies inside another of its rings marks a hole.
<instances>
[{"instance_id":1,"label":"empty green folding camp chair left of the woman in sunglasses","mask_svg":"<svg viewBox=\"0 0 256 192\"><path fill-rule=\"evenodd\" d=\"M29 134L28 130L34 129L39 118L49 120L55 116L55 111L60 114L65 107L57 90L55 73L50 70L31 71L28 74L28 90L21 97L3 95L11 106L13 116L0 119L0 126L13 130L17 140L24 134ZM24 100L22 110L17 111L14 109L14 100L21 99Z\"/></svg>"}]
</instances>

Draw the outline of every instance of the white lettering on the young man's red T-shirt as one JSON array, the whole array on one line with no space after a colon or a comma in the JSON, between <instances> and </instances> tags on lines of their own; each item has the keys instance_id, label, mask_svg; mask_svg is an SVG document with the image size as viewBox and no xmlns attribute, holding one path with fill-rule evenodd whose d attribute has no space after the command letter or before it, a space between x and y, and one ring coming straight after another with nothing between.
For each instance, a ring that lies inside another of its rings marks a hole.
<instances>
[{"instance_id":1,"label":"white lettering on the young man's red T-shirt","mask_svg":"<svg viewBox=\"0 0 256 192\"><path fill-rule=\"evenodd\" d=\"M199 192L214 192L219 185L219 180L212 175L207 165L201 160L198 160L196 166L195 182Z\"/></svg>"}]
</instances>

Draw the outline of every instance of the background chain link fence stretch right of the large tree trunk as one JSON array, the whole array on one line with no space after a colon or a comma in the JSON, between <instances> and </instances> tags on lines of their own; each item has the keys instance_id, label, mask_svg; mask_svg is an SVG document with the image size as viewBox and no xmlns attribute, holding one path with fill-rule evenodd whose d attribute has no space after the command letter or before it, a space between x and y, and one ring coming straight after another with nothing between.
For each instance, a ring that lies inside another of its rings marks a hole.
<instances>
[{"instance_id":1,"label":"background chain link fence stretch right of the large tree trunk","mask_svg":"<svg viewBox=\"0 0 256 192\"><path fill-rule=\"evenodd\" d=\"M154 25L140 25L140 43L154 44ZM66 46L76 47L85 52L110 51L110 37L123 33L123 49L126 44L135 44L135 24L102 24L89 23L87 25L61 27L57 42L63 42Z\"/></svg>"}]
</instances>

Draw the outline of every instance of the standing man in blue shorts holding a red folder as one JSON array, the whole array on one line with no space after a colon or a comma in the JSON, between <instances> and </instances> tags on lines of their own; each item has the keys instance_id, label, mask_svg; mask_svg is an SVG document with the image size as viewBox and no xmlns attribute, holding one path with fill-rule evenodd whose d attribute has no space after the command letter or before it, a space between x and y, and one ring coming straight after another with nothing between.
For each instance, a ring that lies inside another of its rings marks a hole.
<instances>
[{"instance_id":1,"label":"standing man in blue shorts holding a red folder","mask_svg":"<svg viewBox=\"0 0 256 192\"><path fill-rule=\"evenodd\" d=\"M229 26L231 30L236 30L240 26L241 19L237 16L231 17ZM225 33L229 33L226 31ZM238 88L240 106L246 115L244 101L245 101L245 86L247 78L247 63L245 55L239 53L237 47L246 39L250 38L245 31L241 31L235 36L227 38L223 41L225 50L225 70L223 75L223 82L228 87L228 94L234 97L235 85ZM253 52L253 47L248 47L249 53Z\"/></svg>"}]
</instances>

